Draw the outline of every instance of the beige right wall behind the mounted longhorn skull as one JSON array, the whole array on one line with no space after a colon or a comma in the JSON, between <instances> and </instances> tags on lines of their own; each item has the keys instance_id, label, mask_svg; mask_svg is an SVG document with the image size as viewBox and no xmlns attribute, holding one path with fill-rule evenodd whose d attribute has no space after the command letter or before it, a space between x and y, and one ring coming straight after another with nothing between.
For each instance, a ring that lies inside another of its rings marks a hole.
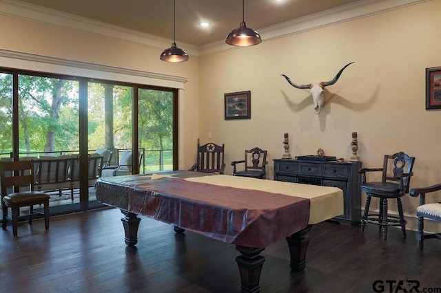
<instances>
[{"instance_id":1,"label":"beige right wall behind the mounted longhorn skull","mask_svg":"<svg viewBox=\"0 0 441 293\"><path fill-rule=\"evenodd\" d=\"M225 143L229 174L229 162L242 158L244 149L267 149L272 178L283 133L289 133L293 156L322 148L349 160L351 132L357 131L363 166L381 167L384 154L404 151L416 157L411 187L441 182L441 110L425 110L424 76L425 68L441 66L439 11L441 1L429 1L201 57L202 142L211 132L212 142ZM319 115L309 92L280 76L296 83L331 80L351 61L327 87ZM252 91L252 119L224 120L224 93L245 90ZM405 197L403 204L414 215L418 199Z\"/></svg>"}]
</instances>

